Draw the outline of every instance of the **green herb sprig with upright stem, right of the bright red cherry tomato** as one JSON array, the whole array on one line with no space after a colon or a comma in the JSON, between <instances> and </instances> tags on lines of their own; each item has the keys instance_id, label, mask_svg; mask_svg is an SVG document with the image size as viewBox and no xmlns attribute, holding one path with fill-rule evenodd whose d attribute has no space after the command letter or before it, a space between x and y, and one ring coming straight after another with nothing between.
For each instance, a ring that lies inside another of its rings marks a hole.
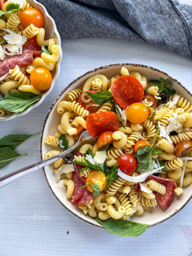
<instances>
[{"instance_id":1,"label":"green herb sprig with upright stem, right of the bright red cherry tomato","mask_svg":"<svg viewBox=\"0 0 192 256\"><path fill-rule=\"evenodd\" d=\"M137 165L137 171L146 171L150 172L153 166L152 162L152 154L161 153L163 150L161 148L155 147L155 141L157 138L157 135L160 131L160 128L157 129L156 135L154 137L153 143L151 144L151 147L149 146L139 148L137 154L134 156L137 158L138 165Z\"/></svg>"}]
</instances>

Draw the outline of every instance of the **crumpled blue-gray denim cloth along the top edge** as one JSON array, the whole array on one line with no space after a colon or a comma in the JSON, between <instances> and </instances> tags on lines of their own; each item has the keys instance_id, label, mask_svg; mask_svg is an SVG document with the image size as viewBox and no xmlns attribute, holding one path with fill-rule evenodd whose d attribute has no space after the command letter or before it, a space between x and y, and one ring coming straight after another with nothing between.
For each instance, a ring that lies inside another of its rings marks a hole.
<instances>
[{"instance_id":1,"label":"crumpled blue-gray denim cloth along the top edge","mask_svg":"<svg viewBox=\"0 0 192 256\"><path fill-rule=\"evenodd\" d=\"M146 42L192 59L192 5L176 0L38 0L61 38Z\"/></svg>"}]
</instances>

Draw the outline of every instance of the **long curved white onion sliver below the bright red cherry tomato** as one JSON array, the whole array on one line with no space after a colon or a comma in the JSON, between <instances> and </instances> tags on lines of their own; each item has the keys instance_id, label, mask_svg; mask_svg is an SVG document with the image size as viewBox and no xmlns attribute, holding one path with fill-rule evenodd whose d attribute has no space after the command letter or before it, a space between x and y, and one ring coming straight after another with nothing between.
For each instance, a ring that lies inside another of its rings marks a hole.
<instances>
[{"instance_id":1,"label":"long curved white onion sliver below the bright red cherry tomato","mask_svg":"<svg viewBox=\"0 0 192 256\"><path fill-rule=\"evenodd\" d=\"M164 168L164 166L161 166L157 169L151 170L150 172L142 173L136 177L129 176L129 175L125 174L124 172L122 172L120 169L117 170L117 174L119 177L121 177L124 180L138 183L138 182L145 181L149 175L152 175L153 173L156 173L163 168Z\"/></svg>"}]
</instances>

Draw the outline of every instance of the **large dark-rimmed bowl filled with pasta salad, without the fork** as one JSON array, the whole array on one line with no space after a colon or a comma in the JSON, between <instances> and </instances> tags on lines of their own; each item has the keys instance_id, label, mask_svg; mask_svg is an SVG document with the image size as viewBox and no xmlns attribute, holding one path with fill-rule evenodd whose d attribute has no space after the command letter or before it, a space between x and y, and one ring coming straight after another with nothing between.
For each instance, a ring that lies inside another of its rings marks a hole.
<instances>
[{"instance_id":1,"label":"large dark-rimmed bowl filled with pasta salad, without the fork","mask_svg":"<svg viewBox=\"0 0 192 256\"><path fill-rule=\"evenodd\" d=\"M83 144L44 176L78 218L117 236L139 236L169 219L192 196L192 95L156 68L129 63L95 68L52 104L41 159L86 131Z\"/></svg>"}]
</instances>

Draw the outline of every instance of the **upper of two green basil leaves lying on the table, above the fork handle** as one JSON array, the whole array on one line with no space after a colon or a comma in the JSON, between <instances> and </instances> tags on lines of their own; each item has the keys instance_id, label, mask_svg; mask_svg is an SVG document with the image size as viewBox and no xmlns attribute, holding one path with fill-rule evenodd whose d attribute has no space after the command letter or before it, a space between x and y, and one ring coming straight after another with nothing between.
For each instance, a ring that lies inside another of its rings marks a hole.
<instances>
[{"instance_id":1,"label":"upper of two green basil leaves lying on the table, above the fork handle","mask_svg":"<svg viewBox=\"0 0 192 256\"><path fill-rule=\"evenodd\" d=\"M40 132L27 135L27 134L10 134L0 139L0 147L8 146L10 148L17 148L21 143L28 140L29 138L41 134Z\"/></svg>"}]
</instances>

